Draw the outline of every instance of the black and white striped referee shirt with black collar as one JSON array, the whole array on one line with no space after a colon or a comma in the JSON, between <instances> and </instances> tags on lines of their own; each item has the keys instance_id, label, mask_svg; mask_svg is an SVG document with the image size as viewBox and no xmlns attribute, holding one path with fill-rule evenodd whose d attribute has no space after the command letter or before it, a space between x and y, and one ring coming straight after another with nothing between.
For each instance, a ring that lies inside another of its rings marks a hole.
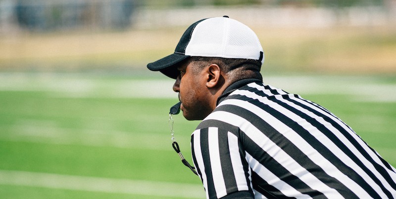
<instances>
[{"instance_id":1,"label":"black and white striped referee shirt with black collar","mask_svg":"<svg viewBox=\"0 0 396 199\"><path fill-rule=\"evenodd\" d=\"M207 198L396 198L396 169L344 122L258 80L231 85L191 144Z\"/></svg>"}]
</instances>

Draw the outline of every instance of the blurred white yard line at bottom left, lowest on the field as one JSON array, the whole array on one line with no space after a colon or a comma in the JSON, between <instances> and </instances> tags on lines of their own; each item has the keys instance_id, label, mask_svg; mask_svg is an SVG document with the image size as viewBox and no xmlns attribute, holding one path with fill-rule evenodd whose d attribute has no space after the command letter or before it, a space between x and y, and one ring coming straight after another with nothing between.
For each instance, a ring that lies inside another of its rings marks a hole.
<instances>
[{"instance_id":1,"label":"blurred white yard line at bottom left, lowest on the field","mask_svg":"<svg viewBox=\"0 0 396 199\"><path fill-rule=\"evenodd\" d=\"M0 170L0 184L155 197L205 197L201 185Z\"/></svg>"}]
</instances>

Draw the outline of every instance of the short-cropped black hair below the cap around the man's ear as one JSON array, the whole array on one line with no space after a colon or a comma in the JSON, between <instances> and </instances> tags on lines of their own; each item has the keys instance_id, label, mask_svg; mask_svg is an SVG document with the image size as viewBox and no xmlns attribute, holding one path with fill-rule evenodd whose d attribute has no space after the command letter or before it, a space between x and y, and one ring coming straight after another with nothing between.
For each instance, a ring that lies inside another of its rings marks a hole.
<instances>
[{"instance_id":1,"label":"short-cropped black hair below the cap around the man's ear","mask_svg":"<svg viewBox=\"0 0 396 199\"><path fill-rule=\"evenodd\" d=\"M234 59L220 57L191 57L190 62L196 62L195 70L201 71L207 64L218 65L224 73L229 75L231 81L255 78L262 80L260 73L261 61L251 59Z\"/></svg>"}]
</instances>

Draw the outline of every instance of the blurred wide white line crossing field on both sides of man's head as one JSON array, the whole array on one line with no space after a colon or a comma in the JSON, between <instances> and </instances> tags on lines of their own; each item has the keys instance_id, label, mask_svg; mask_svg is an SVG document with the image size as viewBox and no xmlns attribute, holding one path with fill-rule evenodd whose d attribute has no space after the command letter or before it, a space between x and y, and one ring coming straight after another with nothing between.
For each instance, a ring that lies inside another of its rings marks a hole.
<instances>
[{"instance_id":1,"label":"blurred wide white line crossing field on both sides of man's head","mask_svg":"<svg viewBox=\"0 0 396 199\"><path fill-rule=\"evenodd\" d=\"M287 92L343 94L359 101L396 102L396 84L385 84L369 76L265 76L264 82ZM0 91L44 91L69 98L171 98L174 80L102 80L81 75L52 73L0 73Z\"/></svg>"}]
</instances>

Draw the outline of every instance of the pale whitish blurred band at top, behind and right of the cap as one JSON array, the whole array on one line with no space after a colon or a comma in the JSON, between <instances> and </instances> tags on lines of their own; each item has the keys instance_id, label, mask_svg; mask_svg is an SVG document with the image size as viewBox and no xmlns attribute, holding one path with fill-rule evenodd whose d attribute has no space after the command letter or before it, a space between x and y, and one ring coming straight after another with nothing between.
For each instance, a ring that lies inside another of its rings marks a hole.
<instances>
[{"instance_id":1,"label":"pale whitish blurred band at top, behind and right of the cap","mask_svg":"<svg viewBox=\"0 0 396 199\"><path fill-rule=\"evenodd\" d=\"M197 7L185 9L140 9L135 27L188 26L205 17L229 15L249 26L331 27L396 25L396 3L384 6L334 7Z\"/></svg>"}]
</instances>

